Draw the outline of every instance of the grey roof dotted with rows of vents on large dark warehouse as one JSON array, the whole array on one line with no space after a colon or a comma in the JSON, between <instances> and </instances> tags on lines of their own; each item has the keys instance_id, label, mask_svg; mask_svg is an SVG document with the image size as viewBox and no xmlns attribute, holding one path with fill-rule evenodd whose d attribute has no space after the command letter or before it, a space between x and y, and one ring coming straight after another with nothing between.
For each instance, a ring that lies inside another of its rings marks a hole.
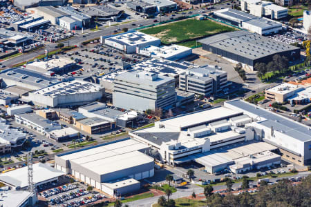
<instances>
[{"instance_id":1,"label":"grey roof dotted with rows of vents on large dark warehouse","mask_svg":"<svg viewBox=\"0 0 311 207\"><path fill-rule=\"evenodd\" d=\"M278 52L299 49L244 30L216 34L199 42L249 59L259 59Z\"/></svg>"}]
</instances>

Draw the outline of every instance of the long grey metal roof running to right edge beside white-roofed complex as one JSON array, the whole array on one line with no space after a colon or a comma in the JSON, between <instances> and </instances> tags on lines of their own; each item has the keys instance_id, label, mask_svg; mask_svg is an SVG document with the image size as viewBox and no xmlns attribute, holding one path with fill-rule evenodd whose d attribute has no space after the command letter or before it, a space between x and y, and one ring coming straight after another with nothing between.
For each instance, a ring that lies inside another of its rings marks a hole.
<instances>
[{"instance_id":1,"label":"long grey metal roof running to right edge beside white-roofed complex","mask_svg":"<svg viewBox=\"0 0 311 207\"><path fill-rule=\"evenodd\" d=\"M266 121L261 121L259 123L263 126L269 128L273 126L274 130L278 130L279 132L283 131L285 135L294 137L300 141L311 140L311 130L309 130L308 126L299 124L295 121L282 117L281 115L276 115L274 112L264 110L263 108L255 107L253 104L246 103L245 101L241 101L239 99L227 101L226 104L231 104L232 106L241 108L241 110L247 110L254 115L258 115L258 117L267 119Z\"/></svg>"}]
</instances>

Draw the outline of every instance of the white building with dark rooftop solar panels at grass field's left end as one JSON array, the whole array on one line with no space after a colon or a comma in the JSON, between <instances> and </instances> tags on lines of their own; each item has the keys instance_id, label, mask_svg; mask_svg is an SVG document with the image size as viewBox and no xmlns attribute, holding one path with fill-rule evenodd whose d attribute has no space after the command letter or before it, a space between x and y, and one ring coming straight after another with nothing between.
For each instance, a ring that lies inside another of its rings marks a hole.
<instances>
[{"instance_id":1,"label":"white building with dark rooftop solar panels at grass field's left end","mask_svg":"<svg viewBox=\"0 0 311 207\"><path fill-rule=\"evenodd\" d=\"M126 34L117 34L113 37L104 39L104 44L122 50L126 53L134 53L137 48L146 48L147 46L160 46L160 39L142 32L129 32Z\"/></svg>"}]
</instances>

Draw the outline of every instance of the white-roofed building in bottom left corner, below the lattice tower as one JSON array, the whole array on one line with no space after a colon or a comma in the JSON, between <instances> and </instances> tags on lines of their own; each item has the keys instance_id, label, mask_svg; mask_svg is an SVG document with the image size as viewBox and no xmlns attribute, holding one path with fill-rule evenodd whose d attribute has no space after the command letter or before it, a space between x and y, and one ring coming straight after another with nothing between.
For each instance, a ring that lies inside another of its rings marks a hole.
<instances>
[{"instance_id":1,"label":"white-roofed building in bottom left corner, below the lattice tower","mask_svg":"<svg viewBox=\"0 0 311 207\"><path fill-rule=\"evenodd\" d=\"M1 192L0 205L3 207L35 206L37 195L28 190L8 190Z\"/></svg>"}]
</instances>

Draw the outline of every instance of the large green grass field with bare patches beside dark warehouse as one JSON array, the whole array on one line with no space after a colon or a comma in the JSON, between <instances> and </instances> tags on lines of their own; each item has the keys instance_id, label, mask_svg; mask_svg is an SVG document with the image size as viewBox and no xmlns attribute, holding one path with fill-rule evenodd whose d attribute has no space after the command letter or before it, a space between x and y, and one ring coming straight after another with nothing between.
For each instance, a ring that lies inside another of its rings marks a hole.
<instances>
[{"instance_id":1,"label":"large green grass field with bare patches beside dark warehouse","mask_svg":"<svg viewBox=\"0 0 311 207\"><path fill-rule=\"evenodd\" d=\"M140 31L160 38L162 43L169 44L234 30L234 28L229 28L210 20L187 19Z\"/></svg>"}]
</instances>

